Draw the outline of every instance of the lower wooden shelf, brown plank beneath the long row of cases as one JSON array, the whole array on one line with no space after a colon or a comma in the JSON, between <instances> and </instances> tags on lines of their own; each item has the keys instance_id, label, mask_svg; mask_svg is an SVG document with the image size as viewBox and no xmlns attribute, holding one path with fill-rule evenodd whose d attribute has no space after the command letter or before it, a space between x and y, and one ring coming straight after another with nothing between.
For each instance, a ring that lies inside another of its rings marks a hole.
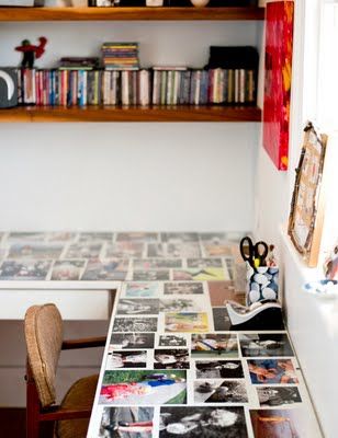
<instances>
[{"instance_id":1,"label":"lower wooden shelf, brown plank beneath the long row of cases","mask_svg":"<svg viewBox=\"0 0 338 438\"><path fill-rule=\"evenodd\" d=\"M256 106L15 107L0 110L0 123L26 122L260 122Z\"/></svg>"}]
</instances>

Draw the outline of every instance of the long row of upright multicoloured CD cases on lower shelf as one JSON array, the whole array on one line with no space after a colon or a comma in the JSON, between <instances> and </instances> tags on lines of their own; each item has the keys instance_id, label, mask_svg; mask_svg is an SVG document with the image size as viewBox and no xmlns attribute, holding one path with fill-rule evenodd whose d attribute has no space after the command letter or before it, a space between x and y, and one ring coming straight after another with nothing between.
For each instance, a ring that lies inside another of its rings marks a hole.
<instances>
[{"instance_id":1,"label":"long row of upright multicoloured CD cases on lower shelf","mask_svg":"<svg viewBox=\"0 0 338 438\"><path fill-rule=\"evenodd\" d=\"M254 70L18 70L19 103L47 106L255 104Z\"/></svg>"}]
</instances>

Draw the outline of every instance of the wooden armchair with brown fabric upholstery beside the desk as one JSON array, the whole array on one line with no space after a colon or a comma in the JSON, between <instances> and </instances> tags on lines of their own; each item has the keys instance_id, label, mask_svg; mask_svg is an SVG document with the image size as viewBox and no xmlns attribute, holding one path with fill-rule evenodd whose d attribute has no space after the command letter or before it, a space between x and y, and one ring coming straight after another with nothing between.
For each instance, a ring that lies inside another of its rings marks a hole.
<instances>
[{"instance_id":1,"label":"wooden armchair with brown fabric upholstery beside the desk","mask_svg":"<svg viewBox=\"0 0 338 438\"><path fill-rule=\"evenodd\" d=\"M24 331L26 438L84 438L98 376L75 382L60 405L56 405L58 359L61 349L101 347L105 337L63 341L63 320L55 304L31 307L25 314Z\"/></svg>"}]
</instances>

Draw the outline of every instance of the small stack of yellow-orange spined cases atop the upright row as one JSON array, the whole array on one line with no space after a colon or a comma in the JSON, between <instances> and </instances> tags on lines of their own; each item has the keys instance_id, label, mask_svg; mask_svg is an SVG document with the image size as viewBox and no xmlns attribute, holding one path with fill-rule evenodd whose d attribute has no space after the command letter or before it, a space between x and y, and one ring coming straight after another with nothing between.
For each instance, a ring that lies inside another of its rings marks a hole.
<instances>
[{"instance_id":1,"label":"small stack of yellow-orange spined cases atop the upright row","mask_svg":"<svg viewBox=\"0 0 338 438\"><path fill-rule=\"evenodd\" d=\"M103 66L110 70L138 70L138 43L103 43Z\"/></svg>"}]
</instances>

